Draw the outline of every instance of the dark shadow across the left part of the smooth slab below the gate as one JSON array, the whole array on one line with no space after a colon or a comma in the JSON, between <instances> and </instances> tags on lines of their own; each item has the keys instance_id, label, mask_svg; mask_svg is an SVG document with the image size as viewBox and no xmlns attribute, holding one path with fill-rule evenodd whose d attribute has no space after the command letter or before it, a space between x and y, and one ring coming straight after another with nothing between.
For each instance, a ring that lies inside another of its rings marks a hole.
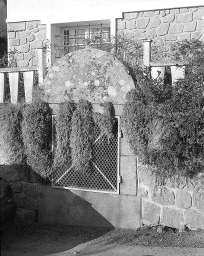
<instances>
[{"instance_id":1,"label":"dark shadow across the left part of the smooth slab below the gate","mask_svg":"<svg viewBox=\"0 0 204 256\"><path fill-rule=\"evenodd\" d=\"M76 191L81 192L81 191ZM83 192L84 193L84 192ZM91 193L91 192L90 192ZM105 207L99 193L92 196L99 207ZM89 198L87 198L89 200ZM92 207L92 203L68 189L37 185L38 221L43 224L111 227L113 225ZM105 210L105 209L104 209ZM107 209L106 209L107 211Z\"/></svg>"}]
</instances>

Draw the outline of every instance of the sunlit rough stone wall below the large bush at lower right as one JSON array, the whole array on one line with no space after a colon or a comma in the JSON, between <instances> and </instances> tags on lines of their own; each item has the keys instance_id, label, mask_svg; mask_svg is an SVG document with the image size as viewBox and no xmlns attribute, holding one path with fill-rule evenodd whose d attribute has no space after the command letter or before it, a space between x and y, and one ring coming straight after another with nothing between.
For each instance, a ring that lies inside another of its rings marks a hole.
<instances>
[{"instance_id":1,"label":"sunlit rough stone wall below the large bush at lower right","mask_svg":"<svg viewBox=\"0 0 204 256\"><path fill-rule=\"evenodd\" d=\"M143 224L204 229L204 177L155 186L155 176L139 162L137 175Z\"/></svg>"}]
</instances>

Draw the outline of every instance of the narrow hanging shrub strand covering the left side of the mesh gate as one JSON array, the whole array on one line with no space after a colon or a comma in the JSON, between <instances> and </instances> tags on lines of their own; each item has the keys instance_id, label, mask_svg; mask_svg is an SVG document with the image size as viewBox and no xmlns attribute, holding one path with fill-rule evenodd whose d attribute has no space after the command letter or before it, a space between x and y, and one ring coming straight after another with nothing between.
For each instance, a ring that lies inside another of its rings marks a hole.
<instances>
[{"instance_id":1,"label":"narrow hanging shrub strand covering the left side of the mesh gate","mask_svg":"<svg viewBox=\"0 0 204 256\"><path fill-rule=\"evenodd\" d=\"M71 162L70 134L71 118L75 104L72 101L60 103L58 115L56 115L56 141L54 151L54 166L68 167Z\"/></svg>"}]
</instances>

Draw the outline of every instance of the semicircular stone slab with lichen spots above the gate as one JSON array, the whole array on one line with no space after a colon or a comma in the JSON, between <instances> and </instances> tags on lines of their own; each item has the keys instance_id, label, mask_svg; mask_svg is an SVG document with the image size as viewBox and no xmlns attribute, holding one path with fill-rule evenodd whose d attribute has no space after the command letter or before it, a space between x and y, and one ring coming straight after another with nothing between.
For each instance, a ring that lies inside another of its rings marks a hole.
<instances>
[{"instance_id":1,"label":"semicircular stone slab with lichen spots above the gate","mask_svg":"<svg viewBox=\"0 0 204 256\"><path fill-rule=\"evenodd\" d=\"M134 88L127 68L113 54L97 49L73 51L60 58L44 79L45 100L87 99L91 103L125 103L126 93Z\"/></svg>"}]
</instances>

